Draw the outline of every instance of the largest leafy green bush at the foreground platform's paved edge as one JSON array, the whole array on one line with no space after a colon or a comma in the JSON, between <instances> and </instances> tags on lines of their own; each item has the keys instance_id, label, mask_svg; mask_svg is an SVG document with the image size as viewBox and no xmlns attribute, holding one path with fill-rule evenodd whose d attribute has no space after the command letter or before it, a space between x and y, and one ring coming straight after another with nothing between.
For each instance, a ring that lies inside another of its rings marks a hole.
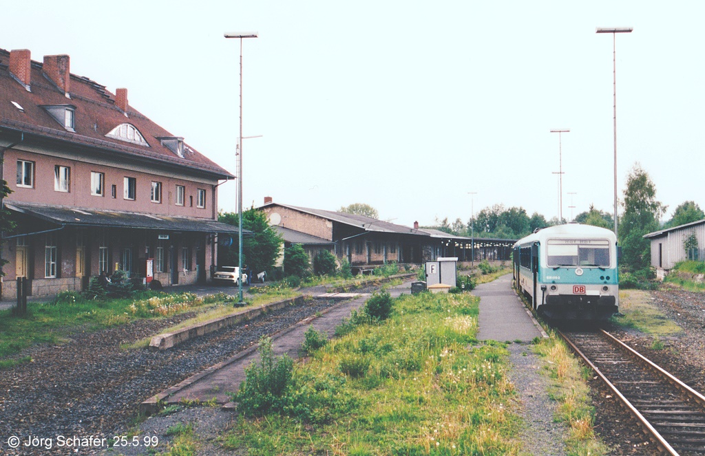
<instances>
[{"instance_id":1,"label":"largest leafy green bush at the foreground platform's paved edge","mask_svg":"<svg viewBox=\"0 0 705 456\"><path fill-rule=\"evenodd\" d=\"M262 416L270 411L281 412L286 405L284 394L292 383L293 359L284 355L274 358L271 338L259 339L259 363L245 369L245 382L233 400L247 416Z\"/></svg>"}]
</instances>

